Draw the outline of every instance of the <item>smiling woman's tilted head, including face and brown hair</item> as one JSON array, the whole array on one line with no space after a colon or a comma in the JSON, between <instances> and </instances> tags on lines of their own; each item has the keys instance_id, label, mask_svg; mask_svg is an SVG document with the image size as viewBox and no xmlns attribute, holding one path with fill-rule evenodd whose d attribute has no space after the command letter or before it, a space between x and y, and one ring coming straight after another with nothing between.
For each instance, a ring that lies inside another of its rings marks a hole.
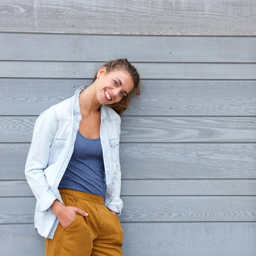
<instances>
[{"instance_id":1,"label":"smiling woman's tilted head, including face and brown hair","mask_svg":"<svg viewBox=\"0 0 256 256\"><path fill-rule=\"evenodd\" d=\"M94 83L99 103L119 115L128 107L131 96L140 95L140 75L126 58L104 64L94 76Z\"/></svg>"}]
</instances>

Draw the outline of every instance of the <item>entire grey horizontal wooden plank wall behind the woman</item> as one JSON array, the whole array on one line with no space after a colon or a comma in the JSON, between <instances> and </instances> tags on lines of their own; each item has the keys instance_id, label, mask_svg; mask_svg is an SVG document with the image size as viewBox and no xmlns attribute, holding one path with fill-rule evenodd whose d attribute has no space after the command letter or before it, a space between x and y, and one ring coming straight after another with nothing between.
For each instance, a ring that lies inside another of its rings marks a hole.
<instances>
[{"instance_id":1,"label":"entire grey horizontal wooden plank wall behind the woman","mask_svg":"<svg viewBox=\"0 0 256 256\"><path fill-rule=\"evenodd\" d=\"M0 0L0 255L43 256L24 166L37 116L128 58L125 256L256 255L256 1Z\"/></svg>"}]
</instances>

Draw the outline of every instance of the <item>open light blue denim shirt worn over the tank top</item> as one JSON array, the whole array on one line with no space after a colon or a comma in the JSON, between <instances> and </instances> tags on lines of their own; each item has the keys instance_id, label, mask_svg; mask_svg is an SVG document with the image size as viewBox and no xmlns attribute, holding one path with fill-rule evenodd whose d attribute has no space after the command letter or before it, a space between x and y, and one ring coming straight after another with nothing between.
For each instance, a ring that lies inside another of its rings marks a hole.
<instances>
[{"instance_id":1,"label":"open light blue denim shirt worn over the tank top","mask_svg":"<svg viewBox=\"0 0 256 256\"><path fill-rule=\"evenodd\" d=\"M79 93L53 105L35 122L32 143L26 160L25 175L35 195L35 229L45 238L53 238L58 218L50 206L61 195L58 184L73 153L76 133L81 121ZM119 163L120 116L110 107L101 105L100 140L105 167L105 206L117 212L123 207L120 199L121 171ZM90 214L90 212L89 212Z\"/></svg>"}]
</instances>

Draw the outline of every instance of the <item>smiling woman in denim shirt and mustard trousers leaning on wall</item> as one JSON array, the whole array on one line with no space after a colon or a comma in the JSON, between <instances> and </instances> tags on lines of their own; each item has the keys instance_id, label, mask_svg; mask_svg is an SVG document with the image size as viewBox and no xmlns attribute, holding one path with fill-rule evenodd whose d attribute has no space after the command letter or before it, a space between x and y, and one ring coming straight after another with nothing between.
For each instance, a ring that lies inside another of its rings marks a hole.
<instances>
[{"instance_id":1,"label":"smiling woman in denim shirt and mustard trousers leaning on wall","mask_svg":"<svg viewBox=\"0 0 256 256\"><path fill-rule=\"evenodd\" d=\"M25 174L46 256L122 255L120 115L140 84L127 59L109 61L36 120Z\"/></svg>"}]
</instances>

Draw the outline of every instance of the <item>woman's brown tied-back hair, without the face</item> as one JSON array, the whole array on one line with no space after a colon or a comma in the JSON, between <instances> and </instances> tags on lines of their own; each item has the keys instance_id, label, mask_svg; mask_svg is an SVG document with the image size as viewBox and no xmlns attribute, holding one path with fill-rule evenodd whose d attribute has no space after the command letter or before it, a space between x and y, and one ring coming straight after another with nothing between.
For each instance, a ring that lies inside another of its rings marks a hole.
<instances>
[{"instance_id":1,"label":"woman's brown tied-back hair, without the face","mask_svg":"<svg viewBox=\"0 0 256 256\"><path fill-rule=\"evenodd\" d=\"M119 58L113 61L108 61L102 67L106 67L106 73L109 73L114 70L124 70L128 74L130 74L134 81L134 88L131 90L130 93L123 97L119 102L108 105L108 107L113 108L113 110L116 111L116 113L118 113L119 116L121 116L123 111L125 111L126 108L129 106L130 98L135 95L140 95L140 87L142 85L140 81L140 74L138 73L137 69L133 65L131 65L131 63L126 58ZM91 84L93 84L93 82L96 81L96 79L97 73L94 76Z\"/></svg>"}]
</instances>

